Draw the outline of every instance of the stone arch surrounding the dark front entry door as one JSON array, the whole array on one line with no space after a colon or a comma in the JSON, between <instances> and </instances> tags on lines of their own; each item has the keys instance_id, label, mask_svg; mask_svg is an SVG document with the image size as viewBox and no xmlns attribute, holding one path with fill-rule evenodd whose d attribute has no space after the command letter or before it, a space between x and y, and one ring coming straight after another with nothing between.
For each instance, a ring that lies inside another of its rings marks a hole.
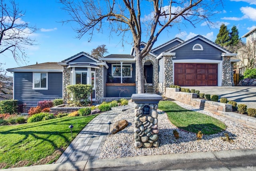
<instances>
[{"instance_id":1,"label":"stone arch surrounding the dark front entry door","mask_svg":"<svg viewBox=\"0 0 256 171\"><path fill-rule=\"evenodd\" d=\"M152 55L147 55L146 57L143 58L142 65L144 66L144 63L147 61L150 61L153 65L153 85L154 85L155 91L158 92L158 60L156 60L156 57Z\"/></svg>"}]
</instances>

